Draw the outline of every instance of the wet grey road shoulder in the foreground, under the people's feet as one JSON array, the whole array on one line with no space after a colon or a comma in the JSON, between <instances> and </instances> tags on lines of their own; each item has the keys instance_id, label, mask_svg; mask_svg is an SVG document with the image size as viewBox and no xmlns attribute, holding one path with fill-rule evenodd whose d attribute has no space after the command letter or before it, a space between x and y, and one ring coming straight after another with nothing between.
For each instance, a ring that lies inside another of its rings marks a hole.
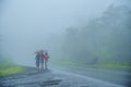
<instances>
[{"instance_id":1,"label":"wet grey road shoulder in the foreground, under the people's feet","mask_svg":"<svg viewBox=\"0 0 131 87\"><path fill-rule=\"evenodd\" d=\"M0 78L0 87L126 87L82 75L27 67L22 74Z\"/></svg>"}]
</instances>

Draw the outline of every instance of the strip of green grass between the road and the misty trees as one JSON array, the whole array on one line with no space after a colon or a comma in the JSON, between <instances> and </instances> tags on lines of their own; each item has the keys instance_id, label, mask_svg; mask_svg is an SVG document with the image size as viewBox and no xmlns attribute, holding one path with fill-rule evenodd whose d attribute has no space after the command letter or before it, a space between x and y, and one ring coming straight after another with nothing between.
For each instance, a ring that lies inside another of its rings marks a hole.
<instances>
[{"instance_id":1,"label":"strip of green grass between the road and the misty trees","mask_svg":"<svg viewBox=\"0 0 131 87\"><path fill-rule=\"evenodd\" d=\"M131 65L119 64L119 63L88 64L84 62L67 61L67 60L52 60L51 62L56 65L61 65L61 66L67 66L67 67L76 66L76 67L94 67L94 69L131 71Z\"/></svg>"}]
</instances>

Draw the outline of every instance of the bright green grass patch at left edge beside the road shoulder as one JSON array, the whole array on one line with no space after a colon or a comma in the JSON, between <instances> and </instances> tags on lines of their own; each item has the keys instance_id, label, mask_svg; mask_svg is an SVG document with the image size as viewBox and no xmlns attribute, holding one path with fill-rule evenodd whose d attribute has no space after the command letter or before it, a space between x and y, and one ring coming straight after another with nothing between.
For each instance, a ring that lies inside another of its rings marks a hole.
<instances>
[{"instance_id":1,"label":"bright green grass patch at left edge beside the road shoulder","mask_svg":"<svg viewBox=\"0 0 131 87\"><path fill-rule=\"evenodd\" d=\"M0 65L0 76L7 76L24 72L24 67L17 64L8 63Z\"/></svg>"}]
</instances>

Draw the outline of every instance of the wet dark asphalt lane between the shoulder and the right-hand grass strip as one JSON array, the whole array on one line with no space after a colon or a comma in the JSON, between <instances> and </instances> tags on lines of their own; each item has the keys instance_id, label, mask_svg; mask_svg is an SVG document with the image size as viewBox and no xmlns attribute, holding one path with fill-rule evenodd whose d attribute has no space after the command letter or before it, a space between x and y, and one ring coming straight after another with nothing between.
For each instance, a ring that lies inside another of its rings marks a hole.
<instances>
[{"instance_id":1,"label":"wet dark asphalt lane between the shoulder and the right-hand grass strip","mask_svg":"<svg viewBox=\"0 0 131 87\"><path fill-rule=\"evenodd\" d=\"M63 66L55 66L55 65L53 69L72 72L75 74L106 80L118 85L123 85L123 86L130 85L131 87L131 72L129 71L90 69L90 67L85 69L85 67L75 67L75 66L63 67Z\"/></svg>"}]
</instances>

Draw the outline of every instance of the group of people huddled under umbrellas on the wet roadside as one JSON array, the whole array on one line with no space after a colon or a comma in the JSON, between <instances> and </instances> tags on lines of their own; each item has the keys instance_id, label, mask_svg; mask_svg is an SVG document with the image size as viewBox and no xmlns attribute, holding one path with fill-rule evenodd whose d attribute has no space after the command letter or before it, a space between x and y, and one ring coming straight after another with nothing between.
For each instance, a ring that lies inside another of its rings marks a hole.
<instances>
[{"instance_id":1,"label":"group of people huddled under umbrellas on the wet roadside","mask_svg":"<svg viewBox=\"0 0 131 87\"><path fill-rule=\"evenodd\" d=\"M37 51L35 53L36 53L36 57L35 57L36 67L39 70L40 64L41 64L41 70L44 70L44 69L47 70L48 69L47 67L47 62L48 62L48 59L49 59L48 53L44 50Z\"/></svg>"}]
</instances>

